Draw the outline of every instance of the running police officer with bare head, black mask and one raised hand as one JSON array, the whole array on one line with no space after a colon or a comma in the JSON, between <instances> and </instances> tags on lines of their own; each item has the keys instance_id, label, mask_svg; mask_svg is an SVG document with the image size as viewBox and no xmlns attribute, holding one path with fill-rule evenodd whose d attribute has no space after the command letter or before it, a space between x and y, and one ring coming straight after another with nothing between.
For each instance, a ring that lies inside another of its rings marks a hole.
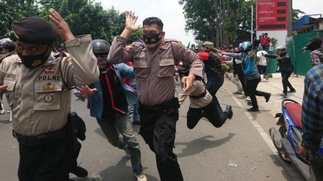
<instances>
[{"instance_id":1,"label":"running police officer with bare head, black mask and one raised hand","mask_svg":"<svg viewBox=\"0 0 323 181\"><path fill-rule=\"evenodd\" d=\"M139 26L138 16L126 12L126 27L112 42L108 62L118 64L133 61L138 85L140 135L156 155L161 181L183 181L182 172L173 153L176 121L179 119L178 99L175 95L175 60L190 64L190 72L183 78L186 91L195 78L202 77L202 63L197 55L186 50L176 40L163 40L163 23L156 17L143 20L143 43L126 46L127 39Z\"/></svg>"}]
</instances>

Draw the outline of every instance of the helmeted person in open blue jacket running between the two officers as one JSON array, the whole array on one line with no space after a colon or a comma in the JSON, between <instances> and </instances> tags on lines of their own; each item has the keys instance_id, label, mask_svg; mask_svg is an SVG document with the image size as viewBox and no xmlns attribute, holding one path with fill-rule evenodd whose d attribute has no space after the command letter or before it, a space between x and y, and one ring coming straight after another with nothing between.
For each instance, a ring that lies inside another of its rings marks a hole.
<instances>
[{"instance_id":1,"label":"helmeted person in open blue jacket running between the two officers","mask_svg":"<svg viewBox=\"0 0 323 181\"><path fill-rule=\"evenodd\" d=\"M147 181L142 172L139 143L127 114L128 105L138 101L137 91L123 82L123 78L135 79L134 69L124 63L109 64L106 58L110 44L105 40L93 40L92 48L100 70L99 80L89 87L76 88L74 94L83 101L88 98L90 115L96 118L108 141L125 150L137 180Z\"/></svg>"}]
</instances>

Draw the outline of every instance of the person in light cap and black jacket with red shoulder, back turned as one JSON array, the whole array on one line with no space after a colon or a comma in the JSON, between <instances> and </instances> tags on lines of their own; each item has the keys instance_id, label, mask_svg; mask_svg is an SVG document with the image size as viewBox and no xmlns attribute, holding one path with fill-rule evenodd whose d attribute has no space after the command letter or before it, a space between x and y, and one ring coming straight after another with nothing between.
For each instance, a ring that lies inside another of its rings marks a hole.
<instances>
[{"instance_id":1,"label":"person in light cap and black jacket with red shoulder, back turned","mask_svg":"<svg viewBox=\"0 0 323 181\"><path fill-rule=\"evenodd\" d=\"M217 111L220 113L223 112L223 110L220 106L216 93L224 83L224 74L221 69L221 59L217 54L214 53L215 51L218 50L214 48L214 44L206 41L202 44L202 52L197 53L197 55L203 61L205 67L207 77L205 88L214 98L217 105Z\"/></svg>"}]
</instances>

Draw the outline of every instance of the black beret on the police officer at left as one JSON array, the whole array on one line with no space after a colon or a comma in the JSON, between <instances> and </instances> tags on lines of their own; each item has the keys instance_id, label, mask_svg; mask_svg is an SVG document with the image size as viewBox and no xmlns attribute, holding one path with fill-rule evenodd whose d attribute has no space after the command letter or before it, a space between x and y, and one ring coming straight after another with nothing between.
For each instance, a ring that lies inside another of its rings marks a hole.
<instances>
[{"instance_id":1,"label":"black beret on the police officer at left","mask_svg":"<svg viewBox=\"0 0 323 181\"><path fill-rule=\"evenodd\" d=\"M39 17L27 17L12 23L11 28L19 42L36 45L49 45L58 38L57 30Z\"/></svg>"}]
</instances>

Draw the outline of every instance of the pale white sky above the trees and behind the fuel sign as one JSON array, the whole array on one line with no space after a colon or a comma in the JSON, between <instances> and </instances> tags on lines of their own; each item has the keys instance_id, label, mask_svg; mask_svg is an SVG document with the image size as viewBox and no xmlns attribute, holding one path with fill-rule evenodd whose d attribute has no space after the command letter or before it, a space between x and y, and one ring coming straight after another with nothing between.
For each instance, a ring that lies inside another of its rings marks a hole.
<instances>
[{"instance_id":1,"label":"pale white sky above the trees and behind the fuel sign","mask_svg":"<svg viewBox=\"0 0 323 181\"><path fill-rule=\"evenodd\" d=\"M166 39L177 39L184 45L194 43L194 36L185 32L185 18L183 7L178 0L94 0L101 2L103 8L110 9L112 6L120 12L126 10L135 11L138 15L137 24L142 25L146 17L155 16L164 23ZM201 4L202 5L202 4ZM306 14L323 14L323 0L293 0L293 8L300 9Z\"/></svg>"}]
</instances>

